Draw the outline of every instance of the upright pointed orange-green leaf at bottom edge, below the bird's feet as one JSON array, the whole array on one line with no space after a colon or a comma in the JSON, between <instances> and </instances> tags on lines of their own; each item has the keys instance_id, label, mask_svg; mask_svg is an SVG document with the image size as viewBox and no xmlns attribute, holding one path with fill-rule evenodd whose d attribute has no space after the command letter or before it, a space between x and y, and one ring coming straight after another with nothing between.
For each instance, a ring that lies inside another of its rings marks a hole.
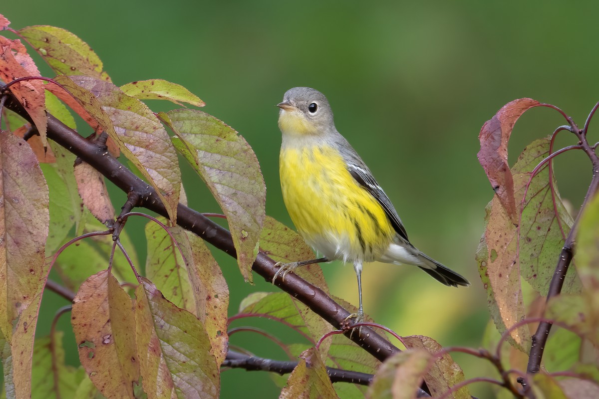
<instances>
[{"instance_id":1,"label":"upright pointed orange-green leaf at bottom edge, below the bird's feet","mask_svg":"<svg viewBox=\"0 0 599 399\"><path fill-rule=\"evenodd\" d=\"M299 356L299 359L279 398L337 398L317 349L308 349Z\"/></svg>"}]
</instances>

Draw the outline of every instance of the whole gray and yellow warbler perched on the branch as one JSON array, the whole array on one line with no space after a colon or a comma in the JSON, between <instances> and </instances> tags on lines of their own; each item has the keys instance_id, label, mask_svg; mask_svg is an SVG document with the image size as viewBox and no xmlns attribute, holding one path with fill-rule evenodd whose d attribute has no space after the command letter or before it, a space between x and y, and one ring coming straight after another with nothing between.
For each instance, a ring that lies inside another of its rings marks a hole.
<instances>
[{"instance_id":1,"label":"whole gray and yellow warbler perched on the branch","mask_svg":"<svg viewBox=\"0 0 599 399\"><path fill-rule=\"evenodd\" d=\"M362 263L413 264L445 285L470 283L408 240L385 191L335 129L328 100L317 90L295 87L277 105L283 133L279 172L283 200L299 234L322 258L279 263L273 278L298 266L343 260L358 277L359 308L347 319L364 320Z\"/></svg>"}]
</instances>

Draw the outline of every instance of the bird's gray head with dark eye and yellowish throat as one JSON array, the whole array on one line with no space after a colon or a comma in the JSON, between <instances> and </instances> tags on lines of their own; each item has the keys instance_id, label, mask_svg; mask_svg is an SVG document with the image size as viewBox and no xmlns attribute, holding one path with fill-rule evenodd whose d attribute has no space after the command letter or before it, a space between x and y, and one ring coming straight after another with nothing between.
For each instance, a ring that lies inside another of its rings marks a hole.
<instances>
[{"instance_id":1,"label":"bird's gray head with dark eye and yellowish throat","mask_svg":"<svg viewBox=\"0 0 599 399\"><path fill-rule=\"evenodd\" d=\"M335 130L333 112L326 97L310 87L287 90L277 104L283 135L325 135Z\"/></svg>"}]
</instances>

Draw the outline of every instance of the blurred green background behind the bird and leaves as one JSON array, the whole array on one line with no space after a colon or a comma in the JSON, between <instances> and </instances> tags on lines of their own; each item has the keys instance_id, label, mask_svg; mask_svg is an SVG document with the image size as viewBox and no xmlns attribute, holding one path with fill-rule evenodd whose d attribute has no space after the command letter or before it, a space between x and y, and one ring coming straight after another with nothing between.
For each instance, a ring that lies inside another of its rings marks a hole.
<instances>
[{"instance_id":1,"label":"blurred green background behind the bird and leaves","mask_svg":"<svg viewBox=\"0 0 599 399\"><path fill-rule=\"evenodd\" d=\"M369 5L29 0L0 6L14 29L53 25L80 36L117 85L163 78L205 100L204 111L252 145L267 184L267 214L288 225L279 188L275 105L295 86L325 93L338 130L391 197L412 242L473 283L447 288L412 267L371 264L363 274L365 310L401 335L424 334L444 346L474 348L481 345L488 321L474 252L493 194L476 159L480 127L521 97L553 103L582 125L598 100L592 95L598 10L591 1L474 0ZM173 108L158 102L150 107ZM531 111L515 130L510 161L560 124L556 112ZM558 142L572 141L564 136ZM562 195L576 209L591 169L582 157L567 153L556 172ZM186 169L184 178L190 206L218 211L192 172ZM114 194L116 204L124 198L120 195ZM128 229L137 236L143 263L143 222ZM274 290L259 276L255 285L245 284L231 258L219 261L231 290L230 313L247 294ZM351 266L326 265L325 275L332 293L357 303ZM44 298L38 334L49 331L63 302L53 294ZM60 325L67 329L68 318ZM65 345L72 352L68 337ZM237 334L231 343L285 359L257 334ZM467 377L486 372L482 361L455 358ZM277 397L280 391L265 373L229 370L222 378L223 398ZM474 395L489 395L480 384L471 388Z\"/></svg>"}]
</instances>

